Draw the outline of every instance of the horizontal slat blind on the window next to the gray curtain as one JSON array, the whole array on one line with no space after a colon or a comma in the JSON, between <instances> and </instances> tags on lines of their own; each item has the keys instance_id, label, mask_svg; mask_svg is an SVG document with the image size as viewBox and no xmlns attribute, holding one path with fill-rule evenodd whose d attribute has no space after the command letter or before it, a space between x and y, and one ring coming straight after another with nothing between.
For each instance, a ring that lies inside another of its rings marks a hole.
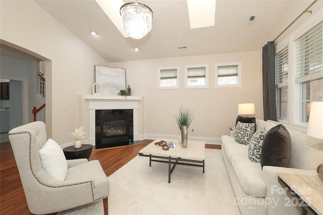
<instances>
[{"instance_id":1,"label":"horizontal slat blind on the window next to the gray curtain","mask_svg":"<svg viewBox=\"0 0 323 215\"><path fill-rule=\"evenodd\" d=\"M288 85L288 46L275 55L275 76L278 87Z\"/></svg>"}]
</instances>

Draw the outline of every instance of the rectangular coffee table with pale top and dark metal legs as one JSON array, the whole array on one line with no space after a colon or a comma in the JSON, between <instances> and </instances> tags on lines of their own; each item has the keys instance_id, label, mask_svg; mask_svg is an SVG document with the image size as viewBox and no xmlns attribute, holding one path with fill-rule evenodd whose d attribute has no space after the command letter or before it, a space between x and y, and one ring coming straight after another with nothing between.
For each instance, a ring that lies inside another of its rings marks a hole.
<instances>
[{"instance_id":1,"label":"rectangular coffee table with pale top and dark metal legs","mask_svg":"<svg viewBox=\"0 0 323 215\"><path fill-rule=\"evenodd\" d=\"M175 142L176 148L170 148L169 150L161 149L161 147L155 145L155 142L161 140ZM168 163L168 183L171 183L171 174L177 164L202 167L204 173L204 152L205 142L203 141L189 140L187 142L187 148L182 148L178 139L158 138L140 150L139 156L149 157L149 167L151 166L151 161ZM171 164L174 164L173 167L171 167Z\"/></svg>"}]
</instances>

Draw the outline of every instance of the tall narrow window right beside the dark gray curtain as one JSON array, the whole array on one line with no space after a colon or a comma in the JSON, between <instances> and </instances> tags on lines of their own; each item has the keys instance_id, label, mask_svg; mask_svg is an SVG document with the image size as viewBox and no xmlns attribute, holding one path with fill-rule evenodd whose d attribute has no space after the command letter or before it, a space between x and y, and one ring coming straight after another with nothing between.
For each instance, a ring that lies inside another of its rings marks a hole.
<instances>
[{"instance_id":1,"label":"tall narrow window right beside the dark gray curtain","mask_svg":"<svg viewBox=\"0 0 323 215\"><path fill-rule=\"evenodd\" d=\"M277 118L288 120L288 46L275 54Z\"/></svg>"}]
</instances>

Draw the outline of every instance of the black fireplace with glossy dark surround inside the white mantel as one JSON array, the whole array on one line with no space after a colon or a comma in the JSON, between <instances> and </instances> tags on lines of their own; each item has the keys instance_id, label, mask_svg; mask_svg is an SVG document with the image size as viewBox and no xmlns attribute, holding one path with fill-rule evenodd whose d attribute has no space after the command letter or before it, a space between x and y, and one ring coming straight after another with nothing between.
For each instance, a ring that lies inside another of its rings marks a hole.
<instances>
[{"instance_id":1,"label":"black fireplace with glossy dark surround inside the white mantel","mask_svg":"<svg viewBox=\"0 0 323 215\"><path fill-rule=\"evenodd\" d=\"M133 110L95 110L95 149L133 144Z\"/></svg>"}]
</instances>

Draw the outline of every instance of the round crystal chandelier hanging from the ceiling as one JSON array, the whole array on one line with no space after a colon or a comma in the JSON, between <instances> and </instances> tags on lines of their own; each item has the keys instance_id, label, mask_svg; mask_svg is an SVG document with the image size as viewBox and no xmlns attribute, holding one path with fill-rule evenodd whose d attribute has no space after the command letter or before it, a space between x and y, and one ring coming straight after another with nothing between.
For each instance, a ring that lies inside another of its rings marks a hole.
<instances>
[{"instance_id":1,"label":"round crystal chandelier hanging from the ceiling","mask_svg":"<svg viewBox=\"0 0 323 215\"><path fill-rule=\"evenodd\" d=\"M127 3L120 8L122 25L131 38L141 39L151 30L152 11L140 3Z\"/></svg>"}]
</instances>

